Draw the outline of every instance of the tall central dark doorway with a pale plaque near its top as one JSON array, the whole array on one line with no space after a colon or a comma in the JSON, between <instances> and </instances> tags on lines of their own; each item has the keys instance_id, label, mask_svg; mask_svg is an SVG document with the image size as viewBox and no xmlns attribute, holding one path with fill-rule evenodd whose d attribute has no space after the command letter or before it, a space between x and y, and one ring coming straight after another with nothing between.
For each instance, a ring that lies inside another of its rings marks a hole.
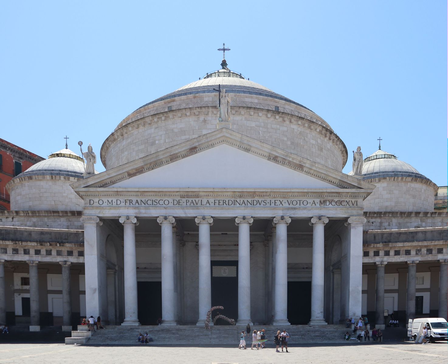
<instances>
[{"instance_id":1,"label":"tall central dark doorway with a pale plaque near its top","mask_svg":"<svg viewBox=\"0 0 448 364\"><path fill-rule=\"evenodd\" d=\"M213 268L215 267L215 269ZM214 274L215 272L215 274ZM238 319L238 261L211 261L211 306L223 306L224 310L215 310L212 318L219 311L228 318ZM228 325L224 320L218 320L216 325Z\"/></svg>"}]
</instances>

